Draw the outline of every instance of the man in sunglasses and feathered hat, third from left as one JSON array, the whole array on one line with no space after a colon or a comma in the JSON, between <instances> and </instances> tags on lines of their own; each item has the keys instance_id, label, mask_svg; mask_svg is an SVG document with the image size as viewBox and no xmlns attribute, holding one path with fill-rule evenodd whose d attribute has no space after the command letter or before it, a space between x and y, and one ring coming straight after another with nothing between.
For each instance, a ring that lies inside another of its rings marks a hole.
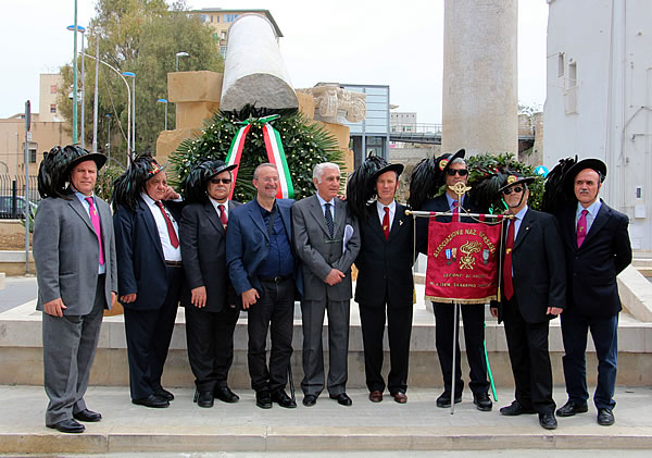
<instances>
[{"instance_id":1,"label":"man in sunglasses and feathered hat, third from left","mask_svg":"<svg viewBox=\"0 0 652 458\"><path fill-rule=\"evenodd\" d=\"M228 214L240 206L229 199L231 170L237 166L206 160L190 171L185 183L186 206L179 226L186 272L181 305L199 407L212 407L214 397L224 403L239 399L227 379L240 305L226 270Z\"/></svg>"}]
</instances>

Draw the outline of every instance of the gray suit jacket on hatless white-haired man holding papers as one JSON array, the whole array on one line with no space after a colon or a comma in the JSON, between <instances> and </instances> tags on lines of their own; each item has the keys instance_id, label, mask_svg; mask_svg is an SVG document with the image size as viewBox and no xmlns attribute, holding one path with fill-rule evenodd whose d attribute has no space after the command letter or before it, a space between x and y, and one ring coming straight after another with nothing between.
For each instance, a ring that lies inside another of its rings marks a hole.
<instances>
[{"instance_id":1,"label":"gray suit jacket on hatless white-haired man holding papers","mask_svg":"<svg viewBox=\"0 0 652 458\"><path fill-rule=\"evenodd\" d=\"M342 253L344 227L353 227L353 236ZM347 203L335 199L334 236L330 238L324 211L316 196L308 197L292 207L293 245L301 259L304 300L349 300L352 297L351 264L360 251L358 221L350 214ZM331 269L347 276L337 285L324 282Z\"/></svg>"}]
</instances>

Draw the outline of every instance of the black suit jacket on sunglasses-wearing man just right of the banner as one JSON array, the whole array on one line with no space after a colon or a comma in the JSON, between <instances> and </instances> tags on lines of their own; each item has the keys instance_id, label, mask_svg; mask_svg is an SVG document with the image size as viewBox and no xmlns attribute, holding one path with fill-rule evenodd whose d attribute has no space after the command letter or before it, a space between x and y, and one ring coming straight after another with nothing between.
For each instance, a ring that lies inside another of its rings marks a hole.
<instances>
[{"instance_id":1,"label":"black suit jacket on sunglasses-wearing man just right of the banner","mask_svg":"<svg viewBox=\"0 0 652 458\"><path fill-rule=\"evenodd\" d=\"M503 261L505 236L506 231L503 231ZM548 307L566 308L566 264L560 231L552 214L527 210L514 240L512 269L514 294L526 322L541 323L553 319L554 315L546 313Z\"/></svg>"}]
</instances>

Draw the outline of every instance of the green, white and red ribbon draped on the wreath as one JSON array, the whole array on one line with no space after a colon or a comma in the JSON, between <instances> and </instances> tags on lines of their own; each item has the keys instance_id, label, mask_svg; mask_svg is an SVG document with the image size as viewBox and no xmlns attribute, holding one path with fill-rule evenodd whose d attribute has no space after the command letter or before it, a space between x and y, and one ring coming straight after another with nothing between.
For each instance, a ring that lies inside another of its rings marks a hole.
<instances>
[{"instance_id":1,"label":"green, white and red ribbon draped on the wreath","mask_svg":"<svg viewBox=\"0 0 652 458\"><path fill-rule=\"evenodd\" d=\"M280 140L280 134L269 124L269 121L279 117L278 114L272 114L269 116L259 117L259 119L250 119L238 124L241 127L238 129L238 133L234 137L231 141L231 146L228 149L228 153L226 154L226 163L228 165L239 165L240 159L242 157L242 149L244 147L244 139L247 138L247 134L251 128L251 124L262 124L263 125L263 139L265 140L265 150L267 151L267 160L269 163L276 165L276 170L278 171L278 177L280 182L280 186L278 188L278 194L276 195L279 199L288 199L294 197L294 188L292 187L292 177L290 176L290 170L288 169L288 161L286 159L285 150L283 149L283 141ZM234 169L231 172L234 174L234 183L238 177L238 169ZM229 199L234 195L235 186L231 187L231 191L229 195Z\"/></svg>"}]
</instances>

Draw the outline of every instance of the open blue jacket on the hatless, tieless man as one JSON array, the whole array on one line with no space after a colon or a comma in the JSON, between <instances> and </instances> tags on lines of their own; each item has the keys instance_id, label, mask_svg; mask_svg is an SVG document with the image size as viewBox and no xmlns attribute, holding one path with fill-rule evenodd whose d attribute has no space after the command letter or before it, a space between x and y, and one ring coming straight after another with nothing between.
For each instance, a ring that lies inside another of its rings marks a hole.
<instances>
[{"instance_id":1,"label":"open blue jacket on the hatless, tieless man","mask_svg":"<svg viewBox=\"0 0 652 458\"><path fill-rule=\"evenodd\" d=\"M276 199L278 213L288 234L288 243L292 245L292 221L290 209L293 199ZM237 294L248 289L261 290L258 269L267 258L269 251L269 236L267 226L263 221L261 210L255 199L235 208L228 220L226 232L226 264L231 284ZM294 259L298 259L294 256ZM294 282L299 293L302 292L302 282L298 262L294 263Z\"/></svg>"}]
</instances>

